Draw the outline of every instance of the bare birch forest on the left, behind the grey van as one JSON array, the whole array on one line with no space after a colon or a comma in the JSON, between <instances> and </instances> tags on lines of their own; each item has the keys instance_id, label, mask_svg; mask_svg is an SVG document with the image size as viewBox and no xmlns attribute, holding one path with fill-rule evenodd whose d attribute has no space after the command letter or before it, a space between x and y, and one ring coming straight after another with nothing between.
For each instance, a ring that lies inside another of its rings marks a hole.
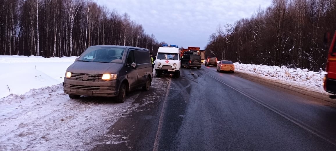
<instances>
[{"instance_id":1,"label":"bare birch forest on the left, behind the grey van","mask_svg":"<svg viewBox=\"0 0 336 151\"><path fill-rule=\"evenodd\" d=\"M155 53L163 43L127 13L92 0L0 0L0 55L79 56L92 45Z\"/></svg>"}]
</instances>

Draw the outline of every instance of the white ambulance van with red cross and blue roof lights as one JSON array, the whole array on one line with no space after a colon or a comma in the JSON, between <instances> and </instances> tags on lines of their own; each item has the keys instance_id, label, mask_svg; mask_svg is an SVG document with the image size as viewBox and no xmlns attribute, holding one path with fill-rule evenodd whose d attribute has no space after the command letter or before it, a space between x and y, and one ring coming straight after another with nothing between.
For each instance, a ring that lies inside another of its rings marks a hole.
<instances>
[{"instance_id":1,"label":"white ambulance van with red cross and blue roof lights","mask_svg":"<svg viewBox=\"0 0 336 151\"><path fill-rule=\"evenodd\" d=\"M175 78L180 77L180 50L176 45L164 44L159 47L155 60L155 75L160 77L163 74L173 74Z\"/></svg>"}]
</instances>

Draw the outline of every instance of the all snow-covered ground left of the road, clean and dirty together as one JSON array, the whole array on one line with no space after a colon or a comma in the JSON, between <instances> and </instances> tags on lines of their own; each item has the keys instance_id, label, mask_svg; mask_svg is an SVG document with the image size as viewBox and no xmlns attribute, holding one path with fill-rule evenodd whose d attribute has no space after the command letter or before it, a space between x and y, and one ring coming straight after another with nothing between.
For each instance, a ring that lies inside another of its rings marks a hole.
<instances>
[{"instance_id":1,"label":"all snow-covered ground left of the road, clean and dirty together","mask_svg":"<svg viewBox=\"0 0 336 151\"><path fill-rule=\"evenodd\" d=\"M4 71L0 74L0 151L79 151L96 144L117 144L120 136L106 135L109 127L128 116L125 113L153 103L151 97L133 103L141 91L121 104L103 97L70 99L61 83L75 58L0 56ZM162 85L153 79L153 88ZM111 139L99 142L102 137Z\"/></svg>"}]
</instances>

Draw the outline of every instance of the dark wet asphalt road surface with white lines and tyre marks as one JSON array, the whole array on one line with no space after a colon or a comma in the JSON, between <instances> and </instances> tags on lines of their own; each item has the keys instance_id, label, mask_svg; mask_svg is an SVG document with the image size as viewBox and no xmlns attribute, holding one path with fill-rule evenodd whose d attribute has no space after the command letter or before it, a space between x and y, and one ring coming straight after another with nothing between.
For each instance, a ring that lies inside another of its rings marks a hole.
<instances>
[{"instance_id":1,"label":"dark wet asphalt road surface with white lines and tyre marks","mask_svg":"<svg viewBox=\"0 0 336 151\"><path fill-rule=\"evenodd\" d=\"M135 102L161 96L111 125L124 141L92 150L336 150L336 103L322 94L212 66L160 80Z\"/></svg>"}]
</instances>

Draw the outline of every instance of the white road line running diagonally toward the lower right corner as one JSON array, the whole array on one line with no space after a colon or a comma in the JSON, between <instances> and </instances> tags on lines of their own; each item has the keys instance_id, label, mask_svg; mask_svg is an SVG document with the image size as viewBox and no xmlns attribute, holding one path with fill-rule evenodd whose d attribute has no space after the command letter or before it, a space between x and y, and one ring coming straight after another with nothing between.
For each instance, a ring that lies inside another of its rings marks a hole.
<instances>
[{"instance_id":1,"label":"white road line running diagonally toward the lower right corner","mask_svg":"<svg viewBox=\"0 0 336 151\"><path fill-rule=\"evenodd\" d=\"M204 72L204 71L203 71L203 72ZM206 72L204 72L204 73L205 73L205 74L208 74L208 73L206 73ZM222 82L221 80L217 79L216 77L214 77L214 76L212 76L212 75L210 75L210 74L208 74L208 75L209 75L210 77L214 78L215 80L219 81L220 83L222 83L222 84L224 84L224 85L230 87L231 89L236 90L237 92L239 92L239 93L245 95L246 97L250 98L251 100L253 100L253 101L259 103L260 105L262 105L262 106L264 106L264 107L266 107L266 108L268 108L269 110L271 110L271 111L273 111L273 112L279 114L280 116L282 116L282 117L288 119L289 121L293 122L294 124L298 125L299 127L303 128L304 130L307 130L308 132L310 132L310 133L312 133L312 134L314 134L314 135L320 137L321 139L323 139L323 140L325 140L325 141L327 141L327 142L329 142L329 143L331 143L331 144L333 144L333 145L336 146L336 142L335 142L335 140L333 140L333 139L329 139L329 138L323 136L322 133L321 133L320 131L318 131L318 130L312 128L312 127L310 127L309 125L307 125L307 124L305 124L304 122L302 122L302 121L296 119L295 117L290 116L290 115L288 115L288 114L286 114L286 113L284 113L284 112L282 112L282 111L280 111L280 110L278 110L278 109L272 107L271 105L268 105L267 103L265 103L265 102L263 102L263 101L261 101L261 100L255 98L255 97L253 97L253 96L248 95L247 93L245 93L245 92L242 91L242 90L239 90L239 89L237 89L237 88L233 88L233 87L227 85L226 83Z\"/></svg>"}]
</instances>

